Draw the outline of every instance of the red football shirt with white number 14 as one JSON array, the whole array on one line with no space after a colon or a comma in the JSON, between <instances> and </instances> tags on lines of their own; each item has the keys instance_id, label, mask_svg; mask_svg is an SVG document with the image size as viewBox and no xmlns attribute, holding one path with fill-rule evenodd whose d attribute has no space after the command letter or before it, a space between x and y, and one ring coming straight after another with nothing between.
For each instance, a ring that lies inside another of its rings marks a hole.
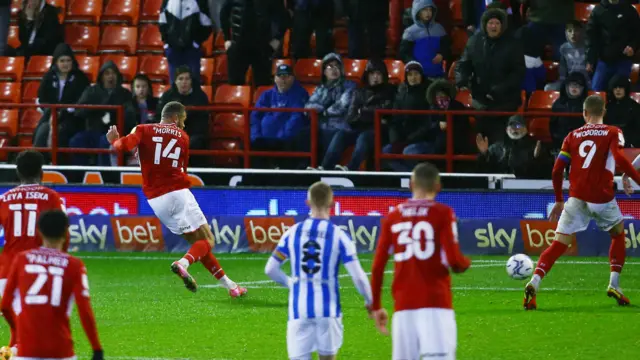
<instances>
[{"instance_id":1,"label":"red football shirt with white number 14","mask_svg":"<svg viewBox=\"0 0 640 360\"><path fill-rule=\"evenodd\" d=\"M113 142L122 151L138 148L142 170L142 191L147 199L187 189L189 136L175 124L144 124Z\"/></svg>"}]
</instances>

